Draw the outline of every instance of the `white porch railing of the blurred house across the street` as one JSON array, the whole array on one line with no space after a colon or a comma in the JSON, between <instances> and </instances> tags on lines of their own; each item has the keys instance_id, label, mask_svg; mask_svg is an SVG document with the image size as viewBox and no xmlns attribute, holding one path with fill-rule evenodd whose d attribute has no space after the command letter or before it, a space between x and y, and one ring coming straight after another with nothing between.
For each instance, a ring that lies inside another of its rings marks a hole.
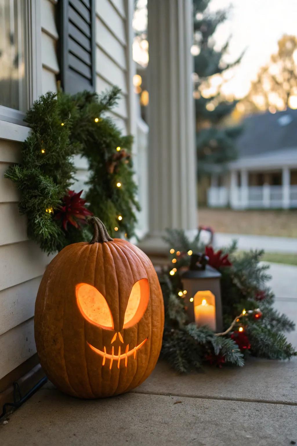
<instances>
[{"instance_id":1,"label":"white porch railing of the blurred house across the street","mask_svg":"<svg viewBox=\"0 0 297 446\"><path fill-rule=\"evenodd\" d=\"M207 190L209 207L233 209L276 209L297 208L297 186L247 186L247 187L210 187Z\"/></svg>"}]
</instances>

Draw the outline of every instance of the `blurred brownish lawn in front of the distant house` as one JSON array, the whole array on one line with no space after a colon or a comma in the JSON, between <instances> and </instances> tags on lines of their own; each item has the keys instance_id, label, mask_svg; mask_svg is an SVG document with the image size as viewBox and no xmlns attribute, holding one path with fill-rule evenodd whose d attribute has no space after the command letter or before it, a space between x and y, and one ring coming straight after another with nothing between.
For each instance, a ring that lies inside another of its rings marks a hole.
<instances>
[{"instance_id":1,"label":"blurred brownish lawn in front of the distant house","mask_svg":"<svg viewBox=\"0 0 297 446\"><path fill-rule=\"evenodd\" d=\"M229 234L297 237L297 210L247 210L199 208L199 225Z\"/></svg>"}]
</instances>

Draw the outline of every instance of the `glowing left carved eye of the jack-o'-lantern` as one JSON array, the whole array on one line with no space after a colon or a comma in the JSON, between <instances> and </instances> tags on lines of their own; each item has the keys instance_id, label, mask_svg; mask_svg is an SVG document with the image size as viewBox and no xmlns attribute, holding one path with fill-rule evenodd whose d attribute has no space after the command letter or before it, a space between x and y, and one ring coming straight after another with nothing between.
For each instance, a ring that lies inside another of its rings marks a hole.
<instances>
[{"instance_id":1,"label":"glowing left carved eye of the jack-o'-lantern","mask_svg":"<svg viewBox=\"0 0 297 446\"><path fill-rule=\"evenodd\" d=\"M110 307L97 288L79 283L76 285L76 297L77 306L85 319L107 330L114 328Z\"/></svg>"}]
</instances>

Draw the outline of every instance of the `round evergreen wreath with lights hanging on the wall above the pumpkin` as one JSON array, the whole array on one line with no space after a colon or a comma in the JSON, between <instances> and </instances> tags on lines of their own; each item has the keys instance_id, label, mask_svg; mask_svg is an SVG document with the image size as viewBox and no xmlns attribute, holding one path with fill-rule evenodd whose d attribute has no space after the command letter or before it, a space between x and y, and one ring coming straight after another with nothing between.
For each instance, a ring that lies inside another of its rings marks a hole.
<instances>
[{"instance_id":1,"label":"round evergreen wreath with lights hanging on the wall above the pumpkin","mask_svg":"<svg viewBox=\"0 0 297 446\"><path fill-rule=\"evenodd\" d=\"M134 235L139 210L131 161L132 136L123 136L106 116L117 103L113 87L98 96L48 92L27 112L31 128L22 162L5 173L20 190L19 210L28 218L28 237L47 253L90 239L88 215L100 215L112 236ZM75 182L74 155L86 157L89 179L84 199ZM88 203L85 206L85 203Z\"/></svg>"}]
</instances>

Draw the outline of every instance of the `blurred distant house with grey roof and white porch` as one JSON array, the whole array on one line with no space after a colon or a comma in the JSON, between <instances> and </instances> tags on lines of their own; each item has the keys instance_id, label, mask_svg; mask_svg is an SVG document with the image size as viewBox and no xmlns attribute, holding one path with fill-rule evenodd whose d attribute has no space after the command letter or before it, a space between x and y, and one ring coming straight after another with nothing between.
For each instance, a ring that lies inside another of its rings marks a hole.
<instances>
[{"instance_id":1,"label":"blurred distant house with grey roof and white porch","mask_svg":"<svg viewBox=\"0 0 297 446\"><path fill-rule=\"evenodd\" d=\"M212 173L210 207L297 208L297 110L248 116L228 172Z\"/></svg>"}]
</instances>

